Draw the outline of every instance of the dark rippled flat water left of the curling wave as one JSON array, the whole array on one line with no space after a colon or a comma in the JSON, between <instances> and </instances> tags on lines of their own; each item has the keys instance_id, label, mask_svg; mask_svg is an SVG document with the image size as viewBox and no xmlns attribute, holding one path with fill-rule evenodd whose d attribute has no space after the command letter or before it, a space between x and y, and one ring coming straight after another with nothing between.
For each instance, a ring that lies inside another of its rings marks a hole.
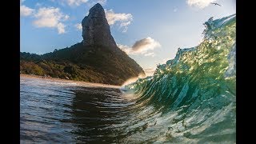
<instances>
[{"instance_id":1,"label":"dark rippled flat water left of the curling wave","mask_svg":"<svg viewBox=\"0 0 256 144\"><path fill-rule=\"evenodd\" d=\"M110 126L123 121L122 109L132 103L116 88L39 78L20 82L21 142L110 141Z\"/></svg>"}]
</instances>

